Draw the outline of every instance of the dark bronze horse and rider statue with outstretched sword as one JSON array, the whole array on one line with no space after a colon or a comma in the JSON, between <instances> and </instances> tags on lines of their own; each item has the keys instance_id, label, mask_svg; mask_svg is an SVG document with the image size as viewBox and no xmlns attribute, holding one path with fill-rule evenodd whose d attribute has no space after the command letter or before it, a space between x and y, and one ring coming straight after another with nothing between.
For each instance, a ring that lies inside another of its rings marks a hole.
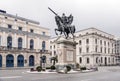
<instances>
[{"instance_id":1,"label":"dark bronze horse and rider statue with outstretched sword","mask_svg":"<svg viewBox=\"0 0 120 81\"><path fill-rule=\"evenodd\" d=\"M58 35L57 31L60 32L60 35L63 33L65 38L68 39L69 34L72 34L74 39L74 33L75 33L75 26L71 25L73 22L73 16L70 14L68 17L65 16L65 14L62 14L62 17L60 17L57 13L55 13L51 8L48 7L50 11L52 11L55 14L55 21L58 26L58 28L55 28L55 33Z\"/></svg>"}]
</instances>

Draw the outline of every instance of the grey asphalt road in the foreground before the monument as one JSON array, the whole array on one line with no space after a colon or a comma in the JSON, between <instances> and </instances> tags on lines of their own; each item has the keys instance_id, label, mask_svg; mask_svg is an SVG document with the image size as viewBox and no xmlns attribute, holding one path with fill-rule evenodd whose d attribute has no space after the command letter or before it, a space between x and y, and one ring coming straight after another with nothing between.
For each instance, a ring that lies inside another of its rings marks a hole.
<instances>
[{"instance_id":1,"label":"grey asphalt road in the foreground before the monument","mask_svg":"<svg viewBox=\"0 0 120 81\"><path fill-rule=\"evenodd\" d=\"M99 67L99 71L89 73L33 74L27 71L0 70L0 81L120 81L120 66Z\"/></svg>"}]
</instances>

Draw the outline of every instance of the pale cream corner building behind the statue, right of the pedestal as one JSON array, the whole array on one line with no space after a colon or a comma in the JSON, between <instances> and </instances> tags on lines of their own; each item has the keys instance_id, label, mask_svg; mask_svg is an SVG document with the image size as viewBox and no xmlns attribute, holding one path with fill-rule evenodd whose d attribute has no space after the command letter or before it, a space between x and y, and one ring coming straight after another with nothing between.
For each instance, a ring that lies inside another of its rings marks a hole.
<instances>
[{"instance_id":1,"label":"pale cream corner building behind the statue, right of the pedestal","mask_svg":"<svg viewBox=\"0 0 120 81\"><path fill-rule=\"evenodd\" d=\"M57 55L57 45L54 43L56 39L50 40L52 56ZM76 62L81 66L116 64L113 35L92 27L76 32L75 41L78 43Z\"/></svg>"}]
</instances>

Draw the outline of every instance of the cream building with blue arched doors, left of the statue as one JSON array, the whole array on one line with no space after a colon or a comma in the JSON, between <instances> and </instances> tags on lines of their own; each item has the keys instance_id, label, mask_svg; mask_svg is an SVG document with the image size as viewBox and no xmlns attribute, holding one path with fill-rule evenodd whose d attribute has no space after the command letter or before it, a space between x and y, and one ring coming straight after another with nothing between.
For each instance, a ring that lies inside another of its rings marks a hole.
<instances>
[{"instance_id":1,"label":"cream building with blue arched doors, left of the statue","mask_svg":"<svg viewBox=\"0 0 120 81\"><path fill-rule=\"evenodd\" d=\"M39 22L1 11L0 67L37 66L44 59L49 62L49 37L49 29L40 27Z\"/></svg>"}]
</instances>

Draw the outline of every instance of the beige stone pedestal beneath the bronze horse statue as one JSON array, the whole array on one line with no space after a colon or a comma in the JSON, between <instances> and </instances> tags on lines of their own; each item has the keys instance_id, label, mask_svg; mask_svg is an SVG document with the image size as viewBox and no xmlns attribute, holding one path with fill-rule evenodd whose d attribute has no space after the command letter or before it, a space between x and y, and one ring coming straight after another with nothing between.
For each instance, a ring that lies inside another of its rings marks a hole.
<instances>
[{"instance_id":1,"label":"beige stone pedestal beneath the bronze horse statue","mask_svg":"<svg viewBox=\"0 0 120 81\"><path fill-rule=\"evenodd\" d=\"M70 40L57 41L57 53L58 63L56 69L59 72L63 70L66 65L69 65L72 69L75 68L76 64L76 42Z\"/></svg>"}]
</instances>

